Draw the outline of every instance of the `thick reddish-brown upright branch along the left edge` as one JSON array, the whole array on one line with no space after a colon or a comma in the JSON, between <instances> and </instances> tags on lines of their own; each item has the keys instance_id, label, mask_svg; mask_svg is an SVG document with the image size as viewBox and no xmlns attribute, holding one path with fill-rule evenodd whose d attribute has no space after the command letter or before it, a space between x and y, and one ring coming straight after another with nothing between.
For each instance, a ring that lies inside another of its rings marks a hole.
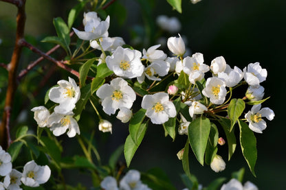
<instances>
[{"instance_id":1,"label":"thick reddish-brown upright branch along the left edge","mask_svg":"<svg viewBox=\"0 0 286 190\"><path fill-rule=\"evenodd\" d=\"M3 1L3 0L2 0ZM10 114L13 106L14 94L17 88L17 68L19 66L19 60L21 56L22 46L21 40L24 36L25 29L25 0L12 1L4 0L8 3L13 3L17 5L17 32L16 32L16 41L11 58L11 62L8 64L8 88L6 92L5 107L2 116L2 122L0 125L0 145L3 149L7 149L11 143L10 139Z\"/></svg>"}]
</instances>

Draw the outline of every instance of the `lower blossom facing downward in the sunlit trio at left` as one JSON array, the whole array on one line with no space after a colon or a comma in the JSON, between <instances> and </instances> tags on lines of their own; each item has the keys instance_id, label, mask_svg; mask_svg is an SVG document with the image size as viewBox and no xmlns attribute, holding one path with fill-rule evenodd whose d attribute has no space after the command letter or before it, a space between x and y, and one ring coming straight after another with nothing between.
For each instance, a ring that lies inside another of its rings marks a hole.
<instances>
[{"instance_id":1,"label":"lower blossom facing downward in the sunlit trio at left","mask_svg":"<svg viewBox=\"0 0 286 190\"><path fill-rule=\"evenodd\" d=\"M78 122L73 118L74 113L70 112L69 115L62 115L53 112L47 119L47 124L50 126L50 130L53 132L54 136L60 136L64 134L67 129L67 136L74 137L76 134L80 134L80 128L78 127Z\"/></svg>"}]
</instances>

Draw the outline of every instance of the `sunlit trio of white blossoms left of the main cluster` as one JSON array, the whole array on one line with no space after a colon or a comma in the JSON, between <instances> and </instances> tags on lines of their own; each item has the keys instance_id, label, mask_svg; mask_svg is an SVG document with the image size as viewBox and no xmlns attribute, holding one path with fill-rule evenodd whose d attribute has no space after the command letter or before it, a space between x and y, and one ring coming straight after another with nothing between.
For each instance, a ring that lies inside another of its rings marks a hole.
<instances>
[{"instance_id":1,"label":"sunlit trio of white blossoms left of the main cluster","mask_svg":"<svg viewBox=\"0 0 286 190\"><path fill-rule=\"evenodd\" d=\"M45 106L32 108L34 119L40 128L50 128L55 136L64 134L67 129L67 136L74 137L80 134L80 129L74 112L76 102L80 99L80 88L76 85L74 79L58 81L58 86L52 87L49 92L49 98L52 102L57 103L54 107L54 112L50 111Z\"/></svg>"}]
</instances>

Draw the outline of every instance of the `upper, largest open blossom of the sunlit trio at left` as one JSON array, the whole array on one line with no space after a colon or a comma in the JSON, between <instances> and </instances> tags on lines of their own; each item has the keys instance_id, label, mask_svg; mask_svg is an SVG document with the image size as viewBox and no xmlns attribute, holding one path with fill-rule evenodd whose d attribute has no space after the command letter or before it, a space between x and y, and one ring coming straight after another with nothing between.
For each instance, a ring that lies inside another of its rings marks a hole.
<instances>
[{"instance_id":1,"label":"upper, largest open blossom of the sunlit trio at left","mask_svg":"<svg viewBox=\"0 0 286 190\"><path fill-rule=\"evenodd\" d=\"M54 108L54 112L61 115L68 115L76 107L76 102L80 99L80 87L76 85L74 79L58 81L58 86L50 89L49 98L59 105Z\"/></svg>"}]
</instances>

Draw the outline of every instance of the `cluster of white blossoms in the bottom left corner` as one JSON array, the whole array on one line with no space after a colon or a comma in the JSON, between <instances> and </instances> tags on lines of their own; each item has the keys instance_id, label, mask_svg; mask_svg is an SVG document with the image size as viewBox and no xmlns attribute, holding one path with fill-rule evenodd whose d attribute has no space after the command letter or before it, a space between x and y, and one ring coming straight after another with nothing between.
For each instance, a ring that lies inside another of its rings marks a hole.
<instances>
[{"instance_id":1,"label":"cluster of white blossoms in the bottom left corner","mask_svg":"<svg viewBox=\"0 0 286 190\"><path fill-rule=\"evenodd\" d=\"M47 165L37 165L34 161L24 165L23 173L12 169L10 154L0 146L0 176L4 177L3 182L0 182L0 189L21 190L22 183L28 187L39 187L47 182L51 176L51 169Z\"/></svg>"}]
</instances>

